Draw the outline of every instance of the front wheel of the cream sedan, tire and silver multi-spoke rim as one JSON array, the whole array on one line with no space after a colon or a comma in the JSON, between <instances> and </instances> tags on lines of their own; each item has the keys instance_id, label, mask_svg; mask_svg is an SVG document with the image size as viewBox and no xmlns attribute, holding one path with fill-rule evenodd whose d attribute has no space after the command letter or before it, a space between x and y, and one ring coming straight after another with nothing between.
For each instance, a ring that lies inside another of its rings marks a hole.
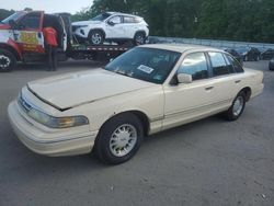
<instances>
[{"instance_id":1,"label":"front wheel of the cream sedan, tire and silver multi-spoke rim","mask_svg":"<svg viewBox=\"0 0 274 206\"><path fill-rule=\"evenodd\" d=\"M100 129L94 152L102 162L119 164L135 156L142 138L144 129L139 118L132 113L119 114Z\"/></svg>"}]
</instances>

